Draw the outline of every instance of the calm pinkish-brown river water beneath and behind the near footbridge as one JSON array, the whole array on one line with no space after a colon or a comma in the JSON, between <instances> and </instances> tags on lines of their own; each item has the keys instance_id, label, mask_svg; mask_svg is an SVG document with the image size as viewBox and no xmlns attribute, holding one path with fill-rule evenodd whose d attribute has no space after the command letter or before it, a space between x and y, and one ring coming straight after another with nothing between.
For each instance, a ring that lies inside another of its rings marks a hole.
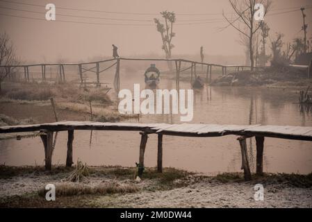
<instances>
[{"instance_id":1,"label":"calm pinkish-brown river water beneath and behind the near footbridge","mask_svg":"<svg viewBox=\"0 0 312 222\"><path fill-rule=\"evenodd\" d=\"M133 77L133 78L132 78ZM131 76L131 81L121 78L121 89L133 90L142 76ZM160 89L172 89L174 80L162 79ZM180 83L180 89L189 89L190 83ZM297 94L281 89L252 87L209 87L196 90L194 118L191 123L217 124L267 124L312 126L312 114L299 108ZM179 123L179 114L140 115L140 121L149 123ZM138 162L140 135L138 132L75 131L74 161L79 157L90 165L135 166ZM249 162L255 170L256 142L249 139ZM8 165L43 164L44 151L39 137L0 142L0 162ZM54 164L65 163L67 133L60 132L54 151ZM145 165L156 166L157 137L149 135ZM240 146L236 136L195 138L163 138L163 165L190 171L218 173L241 171ZM264 171L310 173L312 169L312 142L265 138Z\"/></svg>"}]
</instances>

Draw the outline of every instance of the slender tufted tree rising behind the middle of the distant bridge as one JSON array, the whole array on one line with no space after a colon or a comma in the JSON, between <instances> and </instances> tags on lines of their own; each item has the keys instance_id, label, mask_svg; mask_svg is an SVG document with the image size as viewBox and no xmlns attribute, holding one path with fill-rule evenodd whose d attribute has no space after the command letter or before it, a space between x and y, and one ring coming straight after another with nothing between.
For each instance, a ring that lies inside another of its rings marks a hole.
<instances>
[{"instance_id":1,"label":"slender tufted tree rising behind the middle of the distant bridge","mask_svg":"<svg viewBox=\"0 0 312 222\"><path fill-rule=\"evenodd\" d=\"M174 12L163 11L162 17L165 19L165 24L162 24L159 19L154 19L157 26L157 31L161 33L161 40L163 41L162 49L165 51L166 58L171 58L171 50L174 48L172 44L172 37L175 36L173 32L173 24L176 22L176 15ZM171 63L170 69L171 69Z\"/></svg>"}]
</instances>

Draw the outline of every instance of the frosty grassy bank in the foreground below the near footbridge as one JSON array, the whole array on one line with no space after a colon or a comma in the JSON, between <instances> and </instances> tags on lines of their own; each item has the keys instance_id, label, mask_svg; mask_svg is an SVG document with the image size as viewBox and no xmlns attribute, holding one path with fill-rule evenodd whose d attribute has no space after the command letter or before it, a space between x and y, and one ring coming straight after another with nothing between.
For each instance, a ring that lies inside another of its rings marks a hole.
<instances>
[{"instance_id":1,"label":"frosty grassy bank in the foreground below the near footbridge","mask_svg":"<svg viewBox=\"0 0 312 222\"><path fill-rule=\"evenodd\" d=\"M0 207L312 207L312 176L265 174L243 181L241 173L202 176L178 169L165 168L163 173L147 168L142 180L136 180L136 168L90 167L83 182L65 178L73 168L1 167ZM56 190L56 201L48 202L38 191L47 183ZM254 200L254 185L265 188L263 201ZM77 194L80 187L88 191ZM92 193L98 187L122 187ZM69 187L69 188L68 188ZM90 194L92 193L92 194Z\"/></svg>"}]
</instances>

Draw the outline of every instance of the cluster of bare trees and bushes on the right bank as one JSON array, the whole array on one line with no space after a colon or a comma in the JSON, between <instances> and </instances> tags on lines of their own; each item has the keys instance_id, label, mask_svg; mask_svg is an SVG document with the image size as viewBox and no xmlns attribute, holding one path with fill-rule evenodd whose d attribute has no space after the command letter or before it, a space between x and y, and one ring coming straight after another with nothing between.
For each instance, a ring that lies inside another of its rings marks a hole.
<instances>
[{"instance_id":1,"label":"cluster of bare trees and bushes on the right bank","mask_svg":"<svg viewBox=\"0 0 312 222\"><path fill-rule=\"evenodd\" d=\"M255 19L255 15L258 13L257 3L261 3L264 6L264 17L270 10L270 0L229 0L229 3L237 19L230 21L227 17L224 16L224 18L229 25L233 26L240 33L239 42L245 46L246 65L250 65L252 69L255 66L265 66L269 61L272 66L288 65L302 53L312 51L312 37L311 41L309 41L306 40L304 35L303 38L297 37L290 43L283 41L284 35L281 33L277 33L273 39L270 38L268 24L264 20L256 21ZM304 33L306 33L306 28L307 25L305 24L302 27ZM270 42L268 42L268 38L270 38ZM272 55L267 54L266 46L268 43L270 43Z\"/></svg>"}]
</instances>

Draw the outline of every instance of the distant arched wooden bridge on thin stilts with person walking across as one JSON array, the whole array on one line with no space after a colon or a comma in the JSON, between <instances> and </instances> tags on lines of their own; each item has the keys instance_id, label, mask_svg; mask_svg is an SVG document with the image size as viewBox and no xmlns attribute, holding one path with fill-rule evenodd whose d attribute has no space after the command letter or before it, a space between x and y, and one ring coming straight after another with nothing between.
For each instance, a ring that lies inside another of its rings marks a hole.
<instances>
[{"instance_id":1,"label":"distant arched wooden bridge on thin stilts with person walking across","mask_svg":"<svg viewBox=\"0 0 312 222\"><path fill-rule=\"evenodd\" d=\"M40 64L29 64L29 65L6 65L6 66L0 66L0 69L5 69L6 72L9 74L10 71L16 68L22 68L24 69L24 80L26 82L30 82L30 71L29 69L31 67L40 67L41 68L41 74L42 74L42 82L45 82L47 80L46 78L46 70L47 67L58 67L58 75L60 82L66 81L66 75L65 75L65 66L76 66L79 70L79 78L81 81L81 85L83 85L83 73L90 71L92 73L95 73L97 76L96 85L101 85L100 83L100 74L103 71L106 71L110 68L115 67L115 78L114 78L114 88L116 92L119 92L120 90L120 61L121 60L132 60L132 61L165 61L165 62L174 62L175 64L175 71L176 71L176 87L179 87L179 78L180 74L183 71L186 71L188 69L191 70L191 80L193 76L197 75L196 72L196 65L202 65L206 67L206 79L208 80L208 76L210 75L210 81L211 81L211 74L212 74L212 67L221 67L222 68L222 75L227 74L228 68L235 68L236 71L243 70L244 68L250 68L249 66L245 65L218 65L218 64L211 64L211 63L205 63L205 62L196 62L192 60L184 60L184 59L165 59L165 58L112 58L108 60L100 60L96 62L81 62L81 63L40 63ZM100 69L100 65L106 64L107 62L113 62L113 64L108 65L108 67L105 67L104 69ZM187 63L190 65L190 67L187 67L185 69L181 69L181 63ZM91 67L89 67L91 65ZM8 75L8 78L10 78L10 75Z\"/></svg>"}]
</instances>

